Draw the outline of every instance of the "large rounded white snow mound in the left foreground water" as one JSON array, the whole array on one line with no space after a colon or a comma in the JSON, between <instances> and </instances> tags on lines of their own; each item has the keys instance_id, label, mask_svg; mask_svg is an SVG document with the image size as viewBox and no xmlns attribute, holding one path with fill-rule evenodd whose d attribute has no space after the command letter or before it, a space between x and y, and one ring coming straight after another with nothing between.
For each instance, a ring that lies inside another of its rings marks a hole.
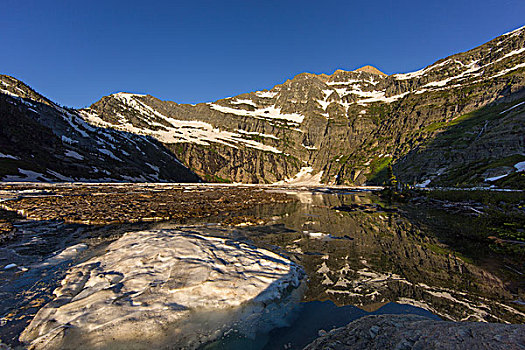
<instances>
[{"instance_id":1,"label":"large rounded white snow mound in the left foreground water","mask_svg":"<svg viewBox=\"0 0 525 350\"><path fill-rule=\"evenodd\" d=\"M275 322L299 300L303 275L244 243L129 232L72 267L20 340L36 349L196 348L233 328Z\"/></svg>"}]
</instances>

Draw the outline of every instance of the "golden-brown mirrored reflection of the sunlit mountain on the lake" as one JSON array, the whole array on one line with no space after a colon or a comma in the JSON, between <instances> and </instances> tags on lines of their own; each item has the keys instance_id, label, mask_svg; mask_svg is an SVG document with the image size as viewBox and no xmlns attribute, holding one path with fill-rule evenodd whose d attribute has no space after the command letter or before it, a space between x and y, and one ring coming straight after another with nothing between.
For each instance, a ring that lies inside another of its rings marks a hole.
<instances>
[{"instance_id":1,"label":"golden-brown mirrored reflection of the sunlit mountain on the lake","mask_svg":"<svg viewBox=\"0 0 525 350\"><path fill-rule=\"evenodd\" d=\"M305 301L374 311L388 302L455 321L525 322L505 283L462 258L368 193L300 192L298 203L260 208L270 226L243 229L295 256L309 276ZM354 208L340 211L334 207ZM276 215L276 211L281 211Z\"/></svg>"}]
</instances>

